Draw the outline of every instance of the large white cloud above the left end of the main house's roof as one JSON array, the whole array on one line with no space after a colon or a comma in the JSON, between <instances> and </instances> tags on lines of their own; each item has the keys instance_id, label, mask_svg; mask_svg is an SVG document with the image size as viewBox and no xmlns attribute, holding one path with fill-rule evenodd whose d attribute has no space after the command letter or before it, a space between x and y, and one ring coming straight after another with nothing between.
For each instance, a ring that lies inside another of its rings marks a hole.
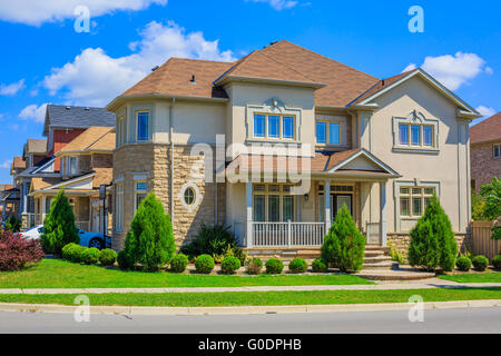
<instances>
[{"instance_id":1,"label":"large white cloud above the left end of the main house's roof","mask_svg":"<svg viewBox=\"0 0 501 356\"><path fill-rule=\"evenodd\" d=\"M218 40L207 41L202 32L186 33L175 22L148 23L141 39L129 43L131 55L112 58L101 48L87 48L73 61L53 68L43 80L51 95L65 91L75 105L104 106L170 57L235 60L233 52L220 51Z\"/></svg>"}]
</instances>

